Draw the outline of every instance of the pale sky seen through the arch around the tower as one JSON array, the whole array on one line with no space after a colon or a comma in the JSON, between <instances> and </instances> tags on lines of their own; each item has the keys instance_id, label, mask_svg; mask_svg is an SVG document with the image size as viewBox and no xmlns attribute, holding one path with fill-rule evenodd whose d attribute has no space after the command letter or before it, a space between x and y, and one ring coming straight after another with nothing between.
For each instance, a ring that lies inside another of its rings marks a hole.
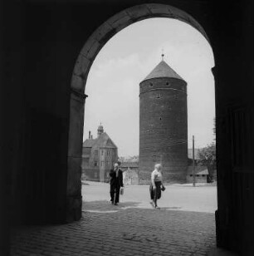
<instances>
[{"instance_id":1,"label":"pale sky seen through the arch around the tower","mask_svg":"<svg viewBox=\"0 0 254 256\"><path fill-rule=\"evenodd\" d=\"M170 18L149 18L118 32L100 50L85 86L84 140L102 124L120 156L139 155L139 83L161 61L188 86L188 148L214 139L214 66L212 48L190 25Z\"/></svg>"}]
</instances>

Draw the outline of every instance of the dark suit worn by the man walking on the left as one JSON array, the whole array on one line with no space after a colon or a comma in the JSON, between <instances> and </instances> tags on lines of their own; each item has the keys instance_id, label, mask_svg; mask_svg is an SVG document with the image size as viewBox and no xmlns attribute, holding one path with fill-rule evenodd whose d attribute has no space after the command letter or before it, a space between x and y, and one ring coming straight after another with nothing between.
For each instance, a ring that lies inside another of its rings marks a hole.
<instances>
[{"instance_id":1,"label":"dark suit worn by the man walking on the left","mask_svg":"<svg viewBox=\"0 0 254 256\"><path fill-rule=\"evenodd\" d=\"M110 170L110 197L112 204L119 203L120 187L123 187L123 172L118 170L118 176L116 177L116 171Z\"/></svg>"}]
</instances>

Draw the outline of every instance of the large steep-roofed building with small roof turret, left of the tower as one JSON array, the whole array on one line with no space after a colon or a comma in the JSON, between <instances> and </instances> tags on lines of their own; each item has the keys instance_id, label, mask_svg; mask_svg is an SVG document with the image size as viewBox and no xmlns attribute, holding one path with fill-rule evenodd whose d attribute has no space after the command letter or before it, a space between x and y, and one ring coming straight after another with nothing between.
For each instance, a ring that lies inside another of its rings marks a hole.
<instances>
[{"instance_id":1,"label":"large steep-roofed building with small roof turret, left of the tower","mask_svg":"<svg viewBox=\"0 0 254 256\"><path fill-rule=\"evenodd\" d=\"M98 127L97 138L89 132L82 149L82 179L108 182L110 170L118 160L117 146L106 134L103 126Z\"/></svg>"}]
</instances>

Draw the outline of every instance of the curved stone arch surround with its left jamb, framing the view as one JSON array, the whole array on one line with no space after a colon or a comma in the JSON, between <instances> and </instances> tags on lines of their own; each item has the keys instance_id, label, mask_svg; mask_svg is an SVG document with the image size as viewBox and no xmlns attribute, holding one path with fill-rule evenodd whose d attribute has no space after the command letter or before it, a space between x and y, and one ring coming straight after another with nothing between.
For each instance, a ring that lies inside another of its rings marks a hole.
<instances>
[{"instance_id":1,"label":"curved stone arch surround with its left jamb, framing the view","mask_svg":"<svg viewBox=\"0 0 254 256\"><path fill-rule=\"evenodd\" d=\"M81 160L85 108L85 83L90 66L100 49L117 32L125 27L150 17L169 17L186 22L208 36L203 27L187 12L165 4L142 4L125 9L105 21L85 42L76 60L71 78L71 109L68 142L68 180L67 180L67 221L81 218Z\"/></svg>"}]
</instances>

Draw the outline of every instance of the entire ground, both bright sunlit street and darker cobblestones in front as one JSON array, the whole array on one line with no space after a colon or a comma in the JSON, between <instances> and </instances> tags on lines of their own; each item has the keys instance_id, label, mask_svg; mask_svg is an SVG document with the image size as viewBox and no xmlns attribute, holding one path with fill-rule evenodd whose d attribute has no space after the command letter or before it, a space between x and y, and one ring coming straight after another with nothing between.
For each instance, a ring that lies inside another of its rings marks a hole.
<instances>
[{"instance_id":1,"label":"entire ground, both bright sunlit street and darker cobblestones in front","mask_svg":"<svg viewBox=\"0 0 254 256\"><path fill-rule=\"evenodd\" d=\"M199 256L215 247L215 186L167 186L153 209L149 186L126 186L115 206L108 184L85 184L80 221L15 229L11 255Z\"/></svg>"}]
</instances>

